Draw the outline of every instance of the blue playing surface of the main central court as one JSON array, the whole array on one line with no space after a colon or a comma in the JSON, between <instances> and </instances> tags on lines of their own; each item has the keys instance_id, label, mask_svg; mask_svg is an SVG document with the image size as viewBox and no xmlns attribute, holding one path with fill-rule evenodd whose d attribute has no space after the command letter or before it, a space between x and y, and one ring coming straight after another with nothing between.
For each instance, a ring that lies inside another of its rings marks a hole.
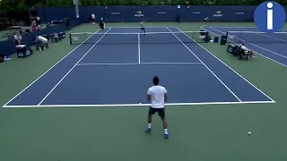
<instances>
[{"instance_id":1,"label":"blue playing surface of the main central court","mask_svg":"<svg viewBox=\"0 0 287 161\"><path fill-rule=\"evenodd\" d=\"M109 28L92 35L88 41L95 44L74 48L3 107L147 106L145 86L154 75L168 90L168 106L274 103L178 28L147 28L170 34L141 37L139 31ZM109 34L126 32L135 34ZM155 43L164 40L175 43Z\"/></svg>"}]
</instances>

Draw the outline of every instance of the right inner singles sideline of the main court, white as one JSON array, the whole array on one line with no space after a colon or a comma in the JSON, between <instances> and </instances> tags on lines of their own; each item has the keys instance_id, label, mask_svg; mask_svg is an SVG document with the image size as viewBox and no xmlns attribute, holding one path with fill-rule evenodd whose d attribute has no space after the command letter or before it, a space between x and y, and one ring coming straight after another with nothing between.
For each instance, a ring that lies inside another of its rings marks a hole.
<instances>
[{"instance_id":1,"label":"right inner singles sideline of the main court, white","mask_svg":"<svg viewBox=\"0 0 287 161\"><path fill-rule=\"evenodd\" d=\"M170 30L170 29L167 27L167 30ZM178 29L177 29L177 30L178 30ZM179 30L179 31L180 31L180 30ZM171 30L170 30L170 33L172 33ZM178 38L174 33L172 33L172 35L173 35L175 38ZM190 37L188 37L188 38L190 38ZM192 39L192 38L191 38L191 39ZM192 40L193 40L193 39L192 39ZM180 38L178 38L178 41L180 41L180 43L181 43L184 47L187 47L187 45L186 45L184 42L182 42ZM193 40L193 41L195 41L195 40ZM196 42L196 41L195 41L195 42ZM202 64L204 64L204 62L203 62L189 47L187 47L187 50L188 50L191 54L195 55L199 62L201 62ZM239 97L236 96L235 93L234 93L206 64L204 64L204 66L205 66L205 68L206 68L209 72L211 72L211 73L213 74L213 76L214 76L217 80L219 80L219 81L222 83L222 85L223 85L226 89L228 89L228 90L230 91L230 93L231 93L234 97L236 97L236 98L239 100L239 102L242 102L242 101L239 99Z\"/></svg>"}]
</instances>

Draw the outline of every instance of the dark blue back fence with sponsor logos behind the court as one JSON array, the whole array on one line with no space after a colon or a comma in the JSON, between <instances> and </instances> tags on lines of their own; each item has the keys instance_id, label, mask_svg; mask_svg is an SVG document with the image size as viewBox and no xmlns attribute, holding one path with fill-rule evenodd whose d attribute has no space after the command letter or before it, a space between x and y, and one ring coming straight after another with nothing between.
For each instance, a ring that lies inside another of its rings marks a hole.
<instances>
[{"instance_id":1,"label":"dark blue back fence with sponsor logos behind the court","mask_svg":"<svg viewBox=\"0 0 287 161\"><path fill-rule=\"evenodd\" d=\"M89 21L89 14L105 21L253 21L255 5L135 5L135 6L80 6L80 16ZM42 21L73 18L74 7L38 7L37 12ZM98 19L99 20L99 19Z\"/></svg>"}]
</instances>

